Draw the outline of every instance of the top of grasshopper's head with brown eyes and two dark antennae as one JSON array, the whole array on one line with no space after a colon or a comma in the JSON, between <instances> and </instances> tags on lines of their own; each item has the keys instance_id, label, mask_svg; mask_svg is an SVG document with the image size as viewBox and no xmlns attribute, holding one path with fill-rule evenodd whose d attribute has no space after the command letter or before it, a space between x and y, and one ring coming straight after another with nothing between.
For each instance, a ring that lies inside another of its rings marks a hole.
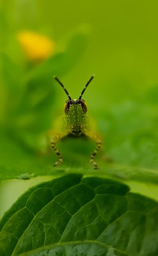
<instances>
[{"instance_id":1,"label":"top of grasshopper's head with brown eyes and two dark antennae","mask_svg":"<svg viewBox=\"0 0 158 256\"><path fill-rule=\"evenodd\" d=\"M92 75L92 77L88 80L87 84L85 85L85 88L82 90L81 95L79 96L79 98L77 100L72 100L70 95L69 95L69 92L67 92L64 85L62 85L62 82L59 81L57 77L54 77L54 78L62 86L62 88L64 89L64 91L66 92L66 94L69 98L69 100L67 100L66 104L64 105L64 110L65 110L66 114L68 114L70 112L70 110L74 110L74 109L81 110L85 113L87 111L87 104L85 103L85 100L81 99L81 97L83 96L83 94L85 92L85 89L87 88L88 84L94 78L94 75Z\"/></svg>"}]
</instances>

